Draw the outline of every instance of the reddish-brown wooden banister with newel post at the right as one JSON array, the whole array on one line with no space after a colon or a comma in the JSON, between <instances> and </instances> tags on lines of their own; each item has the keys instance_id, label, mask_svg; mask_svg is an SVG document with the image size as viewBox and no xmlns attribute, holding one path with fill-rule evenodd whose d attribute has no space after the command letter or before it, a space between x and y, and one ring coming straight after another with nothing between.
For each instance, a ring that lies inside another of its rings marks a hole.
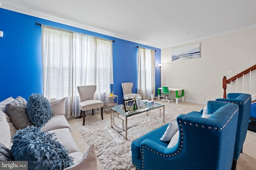
<instances>
[{"instance_id":1,"label":"reddish-brown wooden banister with newel post at the right","mask_svg":"<svg viewBox=\"0 0 256 170\"><path fill-rule=\"evenodd\" d=\"M256 64L254 66L251 66L250 68L236 74L235 76L233 76L229 79L227 79L226 76L223 76L223 78L222 78L222 88L224 90L223 98L227 98L227 95L226 95L227 84L229 84L230 82L235 81L237 78L240 78L240 77L250 73L250 71L253 71L253 70L256 70Z\"/></svg>"}]
</instances>

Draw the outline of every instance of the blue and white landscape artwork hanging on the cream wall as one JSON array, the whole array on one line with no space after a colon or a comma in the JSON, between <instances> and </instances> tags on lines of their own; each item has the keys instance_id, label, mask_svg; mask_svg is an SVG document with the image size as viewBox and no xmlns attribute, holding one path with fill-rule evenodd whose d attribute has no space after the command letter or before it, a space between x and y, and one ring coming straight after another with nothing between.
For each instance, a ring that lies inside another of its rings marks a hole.
<instances>
[{"instance_id":1,"label":"blue and white landscape artwork hanging on the cream wall","mask_svg":"<svg viewBox=\"0 0 256 170\"><path fill-rule=\"evenodd\" d=\"M172 61L200 58L200 43L172 49Z\"/></svg>"}]
</instances>

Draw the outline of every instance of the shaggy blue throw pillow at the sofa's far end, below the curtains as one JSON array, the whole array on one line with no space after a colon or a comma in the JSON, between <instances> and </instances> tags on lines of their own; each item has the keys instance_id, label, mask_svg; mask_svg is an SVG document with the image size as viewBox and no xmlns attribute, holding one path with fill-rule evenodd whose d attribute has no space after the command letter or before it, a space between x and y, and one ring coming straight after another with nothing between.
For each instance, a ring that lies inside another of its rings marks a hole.
<instances>
[{"instance_id":1,"label":"shaggy blue throw pillow at the sofa's far end, below the curtains","mask_svg":"<svg viewBox=\"0 0 256 170\"><path fill-rule=\"evenodd\" d=\"M44 126L53 116L50 102L42 94L33 93L28 98L27 115L37 127Z\"/></svg>"}]
</instances>

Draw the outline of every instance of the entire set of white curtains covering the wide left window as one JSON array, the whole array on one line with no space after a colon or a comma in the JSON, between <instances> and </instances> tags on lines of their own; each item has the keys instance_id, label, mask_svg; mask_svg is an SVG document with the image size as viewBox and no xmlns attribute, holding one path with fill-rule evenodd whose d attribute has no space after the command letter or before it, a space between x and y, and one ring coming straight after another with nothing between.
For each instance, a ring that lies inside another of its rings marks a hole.
<instances>
[{"instance_id":1,"label":"entire set of white curtains covering the wide left window","mask_svg":"<svg viewBox=\"0 0 256 170\"><path fill-rule=\"evenodd\" d=\"M80 114L77 86L96 84L104 101L113 83L112 41L42 25L44 96L65 100L65 116Z\"/></svg>"}]
</instances>

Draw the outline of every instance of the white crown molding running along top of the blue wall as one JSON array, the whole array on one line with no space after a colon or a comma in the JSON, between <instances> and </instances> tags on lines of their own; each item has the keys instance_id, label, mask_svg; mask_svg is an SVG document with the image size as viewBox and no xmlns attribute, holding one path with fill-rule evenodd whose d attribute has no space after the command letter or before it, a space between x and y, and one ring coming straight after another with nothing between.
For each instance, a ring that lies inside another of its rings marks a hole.
<instances>
[{"instance_id":1,"label":"white crown molding running along top of the blue wall","mask_svg":"<svg viewBox=\"0 0 256 170\"><path fill-rule=\"evenodd\" d=\"M35 11L32 11L32 10L23 10L23 9L16 8L16 7L13 7L13 6L8 6L8 5L5 5L5 4L2 4L1 0L0 0L0 8L10 10L10 11L14 11L14 12L18 12L18 13L21 13L21 14L26 14L26 15L29 15L29 16L34 16L34 17L37 17L37 18L42 18L44 20L49 20L49 21L54 21L54 22L57 22L57 23L62 23L62 24L69 25L69 26L72 26L72 27L77 27L77 28L80 28L80 29L85 29L85 30L100 33L100 34L103 34L103 35L108 35L108 36L123 39L123 40L126 40L126 41L131 41L131 42L134 42L134 43L139 43L139 44L142 44L142 45L147 45L147 46L150 46L150 47L155 47L155 48L161 49L161 47L157 47L156 45L152 45L152 44L149 44L149 43L146 43L146 42L143 42L143 41L130 39L130 38L127 38L127 37L122 37L120 35L116 35L114 33L110 33L110 32L104 31L104 30L100 30L100 29L97 29L97 28L88 27L86 25L82 25L82 24L75 23L75 22L72 22L72 21L64 20L63 18L57 18L55 16L42 14L42 13L35 12Z\"/></svg>"}]
</instances>

